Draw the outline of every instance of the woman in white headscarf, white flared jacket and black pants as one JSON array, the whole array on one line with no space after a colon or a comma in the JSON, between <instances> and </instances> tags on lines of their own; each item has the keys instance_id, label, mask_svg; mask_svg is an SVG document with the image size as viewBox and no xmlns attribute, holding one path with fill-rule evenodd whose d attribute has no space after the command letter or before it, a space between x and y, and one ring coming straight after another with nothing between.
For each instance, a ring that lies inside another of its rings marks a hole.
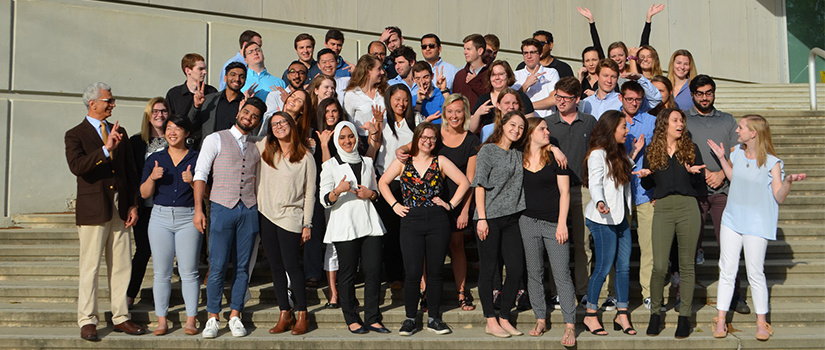
<instances>
[{"instance_id":1,"label":"woman in white headscarf, white flared jacket and black pants","mask_svg":"<svg viewBox=\"0 0 825 350\"><path fill-rule=\"evenodd\" d=\"M355 125L342 121L335 126L333 142L337 154L321 168L320 200L331 208L324 243L338 252L338 290L341 311L350 332L389 333L381 324L381 236L384 226L372 201L378 199L373 161L358 154ZM355 310L355 276L363 262L364 318Z\"/></svg>"}]
</instances>

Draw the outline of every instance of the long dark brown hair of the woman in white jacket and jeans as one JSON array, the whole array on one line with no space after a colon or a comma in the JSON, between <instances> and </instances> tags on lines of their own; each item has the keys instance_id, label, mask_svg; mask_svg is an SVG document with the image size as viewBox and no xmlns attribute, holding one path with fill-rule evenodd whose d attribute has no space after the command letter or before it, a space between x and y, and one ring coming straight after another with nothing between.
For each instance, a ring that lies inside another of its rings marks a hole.
<instances>
[{"instance_id":1,"label":"long dark brown hair of the woman in white jacket and jeans","mask_svg":"<svg viewBox=\"0 0 825 350\"><path fill-rule=\"evenodd\" d=\"M607 160L607 174L616 183L616 188L619 184L626 184L630 182L630 171L633 169L630 159L627 158L627 149L624 143L616 142L616 129L621 123L624 123L624 115L619 111L607 111L596 122L593 131L590 134L590 144L587 150L587 155L584 157L584 168L582 169L582 183L589 187L589 171L587 169L587 160L590 158L590 153L595 150L604 150L607 153L605 159Z\"/></svg>"}]
</instances>

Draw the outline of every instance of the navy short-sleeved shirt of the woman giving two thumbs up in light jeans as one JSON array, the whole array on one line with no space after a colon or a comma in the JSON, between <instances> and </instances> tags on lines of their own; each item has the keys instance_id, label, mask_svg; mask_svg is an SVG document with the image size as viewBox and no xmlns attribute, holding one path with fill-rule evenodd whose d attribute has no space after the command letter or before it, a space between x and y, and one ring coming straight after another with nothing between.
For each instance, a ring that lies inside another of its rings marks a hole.
<instances>
[{"instance_id":1,"label":"navy short-sleeved shirt of the woman giving two thumbs up in light jeans","mask_svg":"<svg viewBox=\"0 0 825 350\"><path fill-rule=\"evenodd\" d=\"M172 157L169 156L168 148L152 153L146 159L146 165L143 167L143 176L140 177L140 183L146 182L149 175L152 174L152 169L155 168L155 162L158 166L163 168L163 176L155 181L155 194L153 203L157 205L164 205L168 207L194 207L195 193L192 186L183 182L181 174L189 169L192 175L195 174L195 163L198 160L198 151L193 149L183 157L183 160L175 166L172 163Z\"/></svg>"}]
</instances>

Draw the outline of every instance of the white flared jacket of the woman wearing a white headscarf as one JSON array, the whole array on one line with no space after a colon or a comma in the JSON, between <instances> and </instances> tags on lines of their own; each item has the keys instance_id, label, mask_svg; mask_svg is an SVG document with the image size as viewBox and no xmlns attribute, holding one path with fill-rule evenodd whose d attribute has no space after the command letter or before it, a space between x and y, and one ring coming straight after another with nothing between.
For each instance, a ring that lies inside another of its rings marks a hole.
<instances>
[{"instance_id":1,"label":"white flared jacket of the woman wearing a white headscarf","mask_svg":"<svg viewBox=\"0 0 825 350\"><path fill-rule=\"evenodd\" d=\"M371 190L378 190L378 181L372 159L363 157L361 163L361 185ZM358 199L351 192L344 192L331 206L327 204L327 194L332 192L346 175L352 188L357 188L355 173L349 164L339 164L338 159L330 158L321 164L321 190L319 200L324 208L332 208L327 222L324 243L346 242L365 236L383 236L384 224L378 217L378 211L369 199Z\"/></svg>"}]
</instances>

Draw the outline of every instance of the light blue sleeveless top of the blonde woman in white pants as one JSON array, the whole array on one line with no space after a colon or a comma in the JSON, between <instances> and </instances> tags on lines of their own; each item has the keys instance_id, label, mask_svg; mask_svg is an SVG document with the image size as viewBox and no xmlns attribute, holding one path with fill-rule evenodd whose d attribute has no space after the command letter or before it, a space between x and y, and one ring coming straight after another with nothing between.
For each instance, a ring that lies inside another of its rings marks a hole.
<instances>
[{"instance_id":1,"label":"light blue sleeveless top of the blonde woman in white pants","mask_svg":"<svg viewBox=\"0 0 825 350\"><path fill-rule=\"evenodd\" d=\"M779 202L773 194L771 169L779 163L782 179L785 163L768 154L765 164L757 166L756 159L745 157L741 145L730 154L733 163L728 202L722 213L722 225L741 235L776 240L779 220Z\"/></svg>"}]
</instances>

